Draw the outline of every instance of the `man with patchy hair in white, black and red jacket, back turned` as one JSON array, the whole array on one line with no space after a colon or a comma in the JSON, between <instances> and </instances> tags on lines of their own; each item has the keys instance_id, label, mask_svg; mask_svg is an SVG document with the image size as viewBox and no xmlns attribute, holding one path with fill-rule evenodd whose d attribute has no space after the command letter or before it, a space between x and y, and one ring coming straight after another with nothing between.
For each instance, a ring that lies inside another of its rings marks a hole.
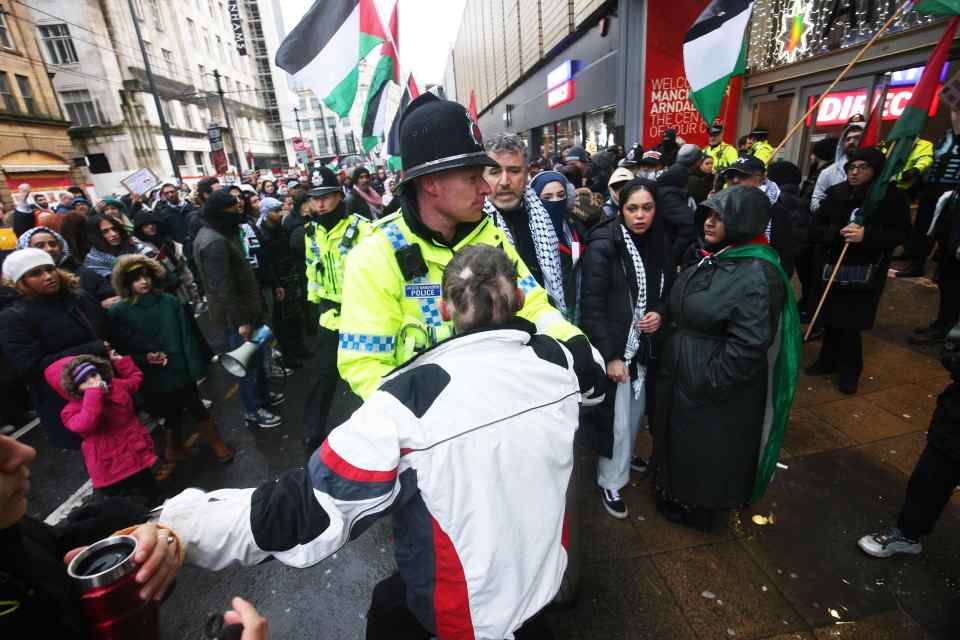
<instances>
[{"instance_id":1,"label":"man with patchy hair in white, black and red jacket, back turned","mask_svg":"<svg viewBox=\"0 0 960 640\"><path fill-rule=\"evenodd\" d=\"M585 340L574 354L516 317L516 282L501 249L458 252L440 305L456 335L384 378L306 469L167 501L186 561L308 567L391 514L399 572L367 638L552 637L538 613L567 565L579 407L605 374Z\"/></svg>"}]
</instances>

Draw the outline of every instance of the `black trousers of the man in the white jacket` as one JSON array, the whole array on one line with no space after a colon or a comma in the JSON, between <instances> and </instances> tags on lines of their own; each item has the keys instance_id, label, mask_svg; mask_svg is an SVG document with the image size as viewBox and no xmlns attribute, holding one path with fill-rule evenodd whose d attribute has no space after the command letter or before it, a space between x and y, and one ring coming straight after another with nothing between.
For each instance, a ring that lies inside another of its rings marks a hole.
<instances>
[{"instance_id":1,"label":"black trousers of the man in the white jacket","mask_svg":"<svg viewBox=\"0 0 960 640\"><path fill-rule=\"evenodd\" d=\"M517 640L552 640L541 614L527 620L514 634ZM367 612L367 640L430 640L434 637L407 607L407 585L395 573L373 588Z\"/></svg>"}]
</instances>

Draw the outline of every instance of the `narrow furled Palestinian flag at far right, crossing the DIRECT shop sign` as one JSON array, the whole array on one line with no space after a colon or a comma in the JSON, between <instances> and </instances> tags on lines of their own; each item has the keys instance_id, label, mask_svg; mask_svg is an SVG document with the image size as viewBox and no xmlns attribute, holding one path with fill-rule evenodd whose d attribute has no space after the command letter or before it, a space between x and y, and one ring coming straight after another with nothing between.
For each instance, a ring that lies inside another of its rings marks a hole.
<instances>
[{"instance_id":1,"label":"narrow furled Palestinian flag at far right, crossing the DIRECT shop sign","mask_svg":"<svg viewBox=\"0 0 960 640\"><path fill-rule=\"evenodd\" d=\"M921 3L926 4L926 2ZM946 4L939 2L934 4ZM949 3L956 4L956 3ZM889 151L887 151L887 163L883 166L880 176L874 180L870 193L861 208L860 216L857 222L864 224L869 218L870 213L876 209L877 205L887 194L887 187L890 181L903 171L907 158L913 150L913 145L917 141L920 132L927 124L927 114L930 112L930 106L940 89L940 72L947 56L950 53L950 47L953 45L953 38L957 33L957 25L960 23L960 16L954 16L947 23L946 31L940 38L937 48L930 54L927 65L923 68L923 75L920 76L920 82L913 88L913 96L907 103L893 130L887 136Z\"/></svg>"}]
</instances>

